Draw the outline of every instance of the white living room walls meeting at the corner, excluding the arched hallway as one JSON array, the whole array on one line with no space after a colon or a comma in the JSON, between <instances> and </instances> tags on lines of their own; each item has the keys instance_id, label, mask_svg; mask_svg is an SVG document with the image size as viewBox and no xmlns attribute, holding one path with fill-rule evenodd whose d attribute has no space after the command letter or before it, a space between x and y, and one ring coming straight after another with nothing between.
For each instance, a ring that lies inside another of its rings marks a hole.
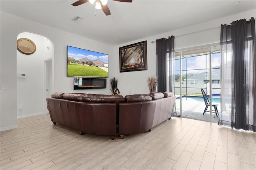
<instances>
[{"instance_id":1,"label":"white living room walls meeting at the corner, excluding the arched hallway","mask_svg":"<svg viewBox=\"0 0 256 170\"><path fill-rule=\"evenodd\" d=\"M149 93L146 77L156 75L156 43L151 43L159 38L167 38L168 36L176 36L175 48L181 49L198 45L218 43L220 41L220 25L229 24L234 20L240 20L251 17L256 18L255 10L250 10L233 16L220 18L218 20L209 21L203 24L190 26L187 28L166 32L156 36L128 42L116 46L96 42L88 38L77 36L56 28L45 26L37 22L26 20L12 14L1 12L1 85L7 85L7 90L1 90L0 99L0 130L8 130L15 128L17 117L17 52L16 40L21 32L31 32L49 38L54 45L54 91L55 92L76 92L76 93L96 93L96 94L112 94L110 91L109 79L107 79L107 89L95 90L73 90L73 78L66 77L66 45L90 49L109 55L109 77L118 77L118 89L121 95L135 93ZM195 18L196 19L196 18ZM145 26L146 27L146 26ZM215 28L207 30L209 28ZM146 28L145 28L146 29ZM198 32L200 30L207 30ZM194 34L189 34L194 32ZM184 36L180 36L186 34ZM119 47L147 40L147 62L148 70L119 72ZM3 43L4 42L4 43Z\"/></svg>"}]
</instances>

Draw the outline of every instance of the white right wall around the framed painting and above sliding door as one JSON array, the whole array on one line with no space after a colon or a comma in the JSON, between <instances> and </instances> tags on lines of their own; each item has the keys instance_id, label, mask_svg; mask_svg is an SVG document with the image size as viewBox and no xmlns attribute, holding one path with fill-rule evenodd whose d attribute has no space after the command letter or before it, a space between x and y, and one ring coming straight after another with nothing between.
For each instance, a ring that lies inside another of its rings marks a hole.
<instances>
[{"instance_id":1,"label":"white right wall around the framed painting and above sliding door","mask_svg":"<svg viewBox=\"0 0 256 170\"><path fill-rule=\"evenodd\" d=\"M255 10L242 12L240 14L235 14L225 18L212 20L172 32L166 32L164 34L159 34L156 36L151 36L133 42L114 46L114 56L119 56L119 47L123 47L132 43L142 42L145 40L147 41L147 71L132 71L120 73L119 67L115 67L114 75L118 77L118 89L120 90L120 93L122 95L130 95L134 93L149 93L146 78L150 75L156 76L156 42L151 43L152 41L156 41L160 38L168 38L168 36L175 36L175 49L184 49L200 45L219 43L221 24L230 24L232 21L244 18L246 18L246 20L249 20L251 17L256 18ZM115 65L119 65L119 59L116 59L114 62Z\"/></svg>"}]
</instances>

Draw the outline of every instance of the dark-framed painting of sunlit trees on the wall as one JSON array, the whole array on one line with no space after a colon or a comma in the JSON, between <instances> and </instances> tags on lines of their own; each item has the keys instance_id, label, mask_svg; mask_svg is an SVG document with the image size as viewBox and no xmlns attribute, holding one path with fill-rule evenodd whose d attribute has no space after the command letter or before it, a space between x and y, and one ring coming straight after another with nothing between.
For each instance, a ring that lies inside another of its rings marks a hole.
<instances>
[{"instance_id":1,"label":"dark-framed painting of sunlit trees on the wall","mask_svg":"<svg viewBox=\"0 0 256 170\"><path fill-rule=\"evenodd\" d=\"M148 70L147 41L119 48L120 72Z\"/></svg>"}]
</instances>

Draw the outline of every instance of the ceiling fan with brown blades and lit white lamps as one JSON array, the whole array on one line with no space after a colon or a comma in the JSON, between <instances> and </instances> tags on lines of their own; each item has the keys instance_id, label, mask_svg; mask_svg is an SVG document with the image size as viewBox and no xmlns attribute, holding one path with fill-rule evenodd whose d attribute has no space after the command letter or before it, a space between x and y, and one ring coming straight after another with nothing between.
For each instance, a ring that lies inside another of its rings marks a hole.
<instances>
[{"instance_id":1,"label":"ceiling fan with brown blades and lit white lamps","mask_svg":"<svg viewBox=\"0 0 256 170\"><path fill-rule=\"evenodd\" d=\"M94 4L96 1L96 9L102 9L102 11L106 14L106 16L110 15L110 10L107 6L108 0L78 0L74 2L72 5L73 6L78 6L81 4L84 4L86 2L90 2L91 4ZM113 0L113 1L119 1L119 2L132 2L132 0Z\"/></svg>"}]
</instances>

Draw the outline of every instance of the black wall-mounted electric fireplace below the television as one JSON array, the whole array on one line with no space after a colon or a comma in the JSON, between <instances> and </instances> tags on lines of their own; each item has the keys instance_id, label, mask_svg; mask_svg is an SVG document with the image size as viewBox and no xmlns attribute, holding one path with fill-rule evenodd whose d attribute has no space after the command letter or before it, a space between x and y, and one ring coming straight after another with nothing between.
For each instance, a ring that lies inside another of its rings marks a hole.
<instances>
[{"instance_id":1,"label":"black wall-mounted electric fireplace below the television","mask_svg":"<svg viewBox=\"0 0 256 170\"><path fill-rule=\"evenodd\" d=\"M107 79L100 78L74 78L74 90L79 89L106 89Z\"/></svg>"}]
</instances>

